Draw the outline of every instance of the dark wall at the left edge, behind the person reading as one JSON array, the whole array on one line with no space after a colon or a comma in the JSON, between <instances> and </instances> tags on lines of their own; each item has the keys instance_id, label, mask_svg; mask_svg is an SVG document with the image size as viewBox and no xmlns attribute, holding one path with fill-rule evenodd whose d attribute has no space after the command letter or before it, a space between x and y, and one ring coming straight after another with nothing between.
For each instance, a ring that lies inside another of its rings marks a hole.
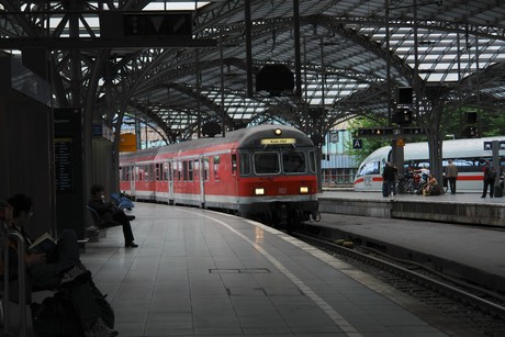
<instances>
[{"instance_id":1,"label":"dark wall at the left edge, behind the person reading","mask_svg":"<svg viewBox=\"0 0 505 337\"><path fill-rule=\"evenodd\" d=\"M9 74L0 63L0 74ZM0 89L0 200L16 193L33 199L34 237L55 223L52 111L19 93Z\"/></svg>"}]
</instances>

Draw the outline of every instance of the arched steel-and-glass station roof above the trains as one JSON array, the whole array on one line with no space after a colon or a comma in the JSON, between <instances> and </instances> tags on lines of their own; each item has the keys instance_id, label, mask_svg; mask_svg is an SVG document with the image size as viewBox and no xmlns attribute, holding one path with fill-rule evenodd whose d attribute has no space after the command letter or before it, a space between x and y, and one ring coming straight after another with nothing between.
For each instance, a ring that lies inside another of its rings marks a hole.
<instances>
[{"instance_id":1,"label":"arched steel-and-glass station roof above the trains","mask_svg":"<svg viewBox=\"0 0 505 337\"><path fill-rule=\"evenodd\" d=\"M191 13L190 41L113 44L100 32L103 12L181 9ZM166 143L194 137L207 121L321 134L356 115L391 115L400 88L413 88L406 104L417 114L435 100L500 111L505 99L505 1L0 0L0 33L13 54L50 41L55 104L81 104L115 128L142 121ZM271 65L287 66L294 87L256 90Z\"/></svg>"}]
</instances>

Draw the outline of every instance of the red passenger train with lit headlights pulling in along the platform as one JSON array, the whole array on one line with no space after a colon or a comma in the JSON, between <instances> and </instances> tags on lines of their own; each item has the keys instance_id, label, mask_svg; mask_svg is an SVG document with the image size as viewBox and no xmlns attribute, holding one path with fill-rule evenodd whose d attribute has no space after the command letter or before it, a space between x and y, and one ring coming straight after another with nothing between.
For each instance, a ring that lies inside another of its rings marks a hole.
<instances>
[{"instance_id":1,"label":"red passenger train with lit headlights pulling in along the platform","mask_svg":"<svg viewBox=\"0 0 505 337\"><path fill-rule=\"evenodd\" d=\"M136 200L226 210L291 229L318 220L315 158L302 132L259 125L121 154L120 187Z\"/></svg>"}]
</instances>

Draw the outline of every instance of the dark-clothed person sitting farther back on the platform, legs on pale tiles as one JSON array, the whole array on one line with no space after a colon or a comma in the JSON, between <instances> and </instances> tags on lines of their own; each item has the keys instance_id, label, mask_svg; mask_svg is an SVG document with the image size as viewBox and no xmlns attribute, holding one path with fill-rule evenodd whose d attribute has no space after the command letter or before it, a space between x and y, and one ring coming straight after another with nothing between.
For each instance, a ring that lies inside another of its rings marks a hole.
<instances>
[{"instance_id":1,"label":"dark-clothed person sitting farther back on the platform, legs on pale tiles","mask_svg":"<svg viewBox=\"0 0 505 337\"><path fill-rule=\"evenodd\" d=\"M124 247L138 247L138 245L134 243L132 225L130 224L130 221L135 217L126 215L123 210L117 209L112 202L104 202L104 190L101 184L93 184L89 193L90 199L88 201L88 206L97 211L104 222L104 227L112 227L117 223L117 225L123 226Z\"/></svg>"}]
</instances>

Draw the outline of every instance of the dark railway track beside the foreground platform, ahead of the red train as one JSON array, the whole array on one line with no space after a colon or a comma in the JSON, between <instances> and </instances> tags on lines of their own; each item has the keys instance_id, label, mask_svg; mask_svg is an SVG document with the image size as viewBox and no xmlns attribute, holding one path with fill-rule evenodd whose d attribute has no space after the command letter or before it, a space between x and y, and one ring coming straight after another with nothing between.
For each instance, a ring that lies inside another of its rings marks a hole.
<instances>
[{"instance_id":1,"label":"dark railway track beside the foreground platform, ahead of the red train","mask_svg":"<svg viewBox=\"0 0 505 337\"><path fill-rule=\"evenodd\" d=\"M293 236L382 280L484 336L505 336L505 296L349 241L308 232Z\"/></svg>"}]
</instances>

